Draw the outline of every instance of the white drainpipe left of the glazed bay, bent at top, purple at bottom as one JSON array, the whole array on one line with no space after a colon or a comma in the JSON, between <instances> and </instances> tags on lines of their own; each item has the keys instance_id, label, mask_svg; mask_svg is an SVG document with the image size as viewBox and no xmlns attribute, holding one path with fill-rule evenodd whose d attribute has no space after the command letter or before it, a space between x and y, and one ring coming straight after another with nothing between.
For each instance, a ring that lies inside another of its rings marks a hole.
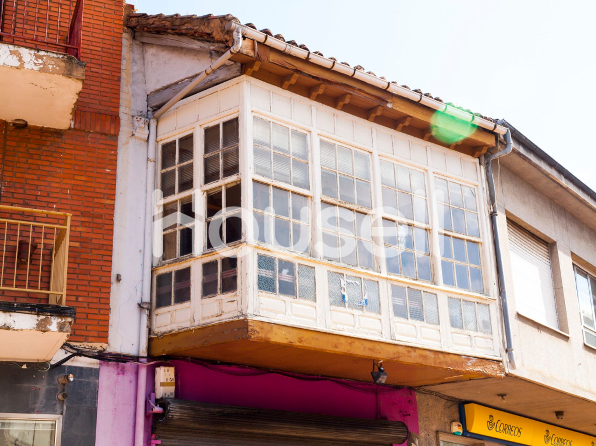
<instances>
[{"instance_id":1,"label":"white drainpipe left of the glazed bay, bent at top, purple at bottom","mask_svg":"<svg viewBox=\"0 0 596 446\"><path fill-rule=\"evenodd\" d=\"M145 180L147 188L145 190L145 242L143 252L143 288L141 295L141 323L139 324L139 356L147 356L148 330L149 330L149 311L151 308L151 267L153 266L153 192L155 189L156 176L156 146L157 146L157 119L166 111L170 110L176 102L184 98L191 92L195 86L203 82L209 74L221 67L229 58L238 52L242 45L242 30L232 29L234 36L234 45L228 51L222 54L218 60L210 64L206 70L198 74L184 89L179 91L159 110L153 113L149 111L149 136L147 139L147 179ZM135 413L135 446L144 446L145 433L145 389L147 387L147 366L138 366L138 375L136 379L136 413Z\"/></svg>"}]
</instances>

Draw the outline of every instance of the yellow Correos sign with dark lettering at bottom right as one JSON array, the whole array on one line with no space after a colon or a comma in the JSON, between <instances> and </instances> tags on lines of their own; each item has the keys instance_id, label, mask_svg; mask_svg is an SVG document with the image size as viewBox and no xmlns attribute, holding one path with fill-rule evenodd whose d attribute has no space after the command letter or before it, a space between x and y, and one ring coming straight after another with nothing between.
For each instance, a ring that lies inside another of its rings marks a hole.
<instances>
[{"instance_id":1,"label":"yellow Correos sign with dark lettering at bottom right","mask_svg":"<svg viewBox=\"0 0 596 446\"><path fill-rule=\"evenodd\" d=\"M480 404L464 404L466 433L526 446L595 446L596 437L548 425Z\"/></svg>"}]
</instances>

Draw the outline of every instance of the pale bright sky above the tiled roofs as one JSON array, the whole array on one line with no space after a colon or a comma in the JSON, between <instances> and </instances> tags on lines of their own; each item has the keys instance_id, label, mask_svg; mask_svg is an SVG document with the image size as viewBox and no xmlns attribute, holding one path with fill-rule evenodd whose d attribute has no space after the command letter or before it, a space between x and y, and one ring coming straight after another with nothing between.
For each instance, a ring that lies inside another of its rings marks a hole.
<instances>
[{"instance_id":1,"label":"pale bright sky above the tiled roofs","mask_svg":"<svg viewBox=\"0 0 596 446\"><path fill-rule=\"evenodd\" d=\"M148 14L232 14L325 57L505 118L596 190L594 1L136 0L134 5Z\"/></svg>"}]
</instances>

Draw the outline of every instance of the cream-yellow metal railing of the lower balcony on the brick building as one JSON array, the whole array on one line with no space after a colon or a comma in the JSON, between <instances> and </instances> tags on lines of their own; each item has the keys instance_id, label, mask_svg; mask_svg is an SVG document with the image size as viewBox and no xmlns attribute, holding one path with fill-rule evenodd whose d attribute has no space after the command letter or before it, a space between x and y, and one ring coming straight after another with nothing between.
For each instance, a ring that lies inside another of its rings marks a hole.
<instances>
[{"instance_id":1,"label":"cream-yellow metal railing of the lower balcony on the brick building","mask_svg":"<svg viewBox=\"0 0 596 446\"><path fill-rule=\"evenodd\" d=\"M0 300L66 304L70 214L0 205Z\"/></svg>"}]
</instances>

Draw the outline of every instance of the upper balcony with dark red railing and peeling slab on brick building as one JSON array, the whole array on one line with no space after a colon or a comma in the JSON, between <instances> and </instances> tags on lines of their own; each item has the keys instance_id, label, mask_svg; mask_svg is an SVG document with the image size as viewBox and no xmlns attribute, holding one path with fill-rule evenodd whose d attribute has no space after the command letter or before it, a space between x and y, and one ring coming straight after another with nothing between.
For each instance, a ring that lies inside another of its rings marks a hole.
<instances>
[{"instance_id":1,"label":"upper balcony with dark red railing and peeling slab on brick building","mask_svg":"<svg viewBox=\"0 0 596 446\"><path fill-rule=\"evenodd\" d=\"M85 79L82 0L0 0L0 120L67 129Z\"/></svg>"}]
</instances>

